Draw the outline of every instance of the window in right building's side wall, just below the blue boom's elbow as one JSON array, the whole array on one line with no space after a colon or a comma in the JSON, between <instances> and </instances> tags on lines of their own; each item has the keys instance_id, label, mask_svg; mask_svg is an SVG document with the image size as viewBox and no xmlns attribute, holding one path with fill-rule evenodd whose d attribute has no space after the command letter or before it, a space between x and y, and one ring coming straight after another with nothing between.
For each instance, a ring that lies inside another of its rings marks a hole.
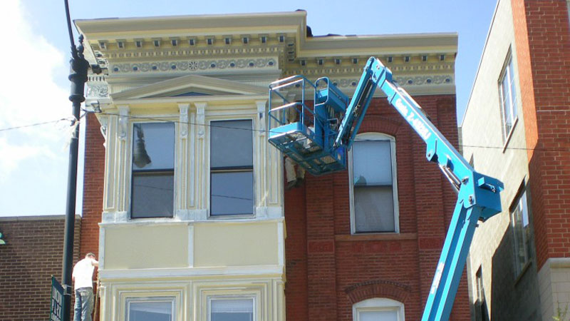
<instances>
[{"instance_id":1,"label":"window in right building's side wall, just below the blue boom's elbow","mask_svg":"<svg viewBox=\"0 0 570 321\"><path fill-rule=\"evenodd\" d=\"M515 271L519 275L531 258L529 208L527 192L524 190L512 205L511 222L514 232Z\"/></svg>"}]
</instances>

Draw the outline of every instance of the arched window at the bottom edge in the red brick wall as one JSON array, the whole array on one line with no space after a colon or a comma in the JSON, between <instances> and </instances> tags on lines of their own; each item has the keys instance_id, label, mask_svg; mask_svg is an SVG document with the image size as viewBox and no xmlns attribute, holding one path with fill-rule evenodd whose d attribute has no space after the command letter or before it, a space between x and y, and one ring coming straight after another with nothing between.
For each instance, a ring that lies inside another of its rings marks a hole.
<instances>
[{"instance_id":1,"label":"arched window at the bottom edge in the red brick wall","mask_svg":"<svg viewBox=\"0 0 570 321\"><path fill-rule=\"evenodd\" d=\"M363 300L352 306L354 321L404 321L404 304L385 297Z\"/></svg>"}]
</instances>

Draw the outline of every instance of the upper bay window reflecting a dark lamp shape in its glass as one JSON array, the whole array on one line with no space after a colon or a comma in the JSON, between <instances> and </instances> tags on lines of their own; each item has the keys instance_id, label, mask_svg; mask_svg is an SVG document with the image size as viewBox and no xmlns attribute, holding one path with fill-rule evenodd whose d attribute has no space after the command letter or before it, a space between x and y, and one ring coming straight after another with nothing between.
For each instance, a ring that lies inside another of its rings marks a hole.
<instances>
[{"instance_id":1,"label":"upper bay window reflecting a dark lamp shape in its glass","mask_svg":"<svg viewBox=\"0 0 570 321\"><path fill-rule=\"evenodd\" d=\"M174 123L135 123L131 218L169 218L174 213Z\"/></svg>"}]
</instances>

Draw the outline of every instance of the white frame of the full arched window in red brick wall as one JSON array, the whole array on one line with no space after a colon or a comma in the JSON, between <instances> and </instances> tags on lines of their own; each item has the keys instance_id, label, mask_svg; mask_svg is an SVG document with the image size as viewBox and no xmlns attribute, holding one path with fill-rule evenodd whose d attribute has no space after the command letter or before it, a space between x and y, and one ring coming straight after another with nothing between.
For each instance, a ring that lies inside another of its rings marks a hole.
<instances>
[{"instance_id":1,"label":"white frame of the full arched window in red brick wall","mask_svg":"<svg viewBox=\"0 0 570 321\"><path fill-rule=\"evenodd\" d=\"M400 206L398 204L398 174L396 165L396 144L393 136L384 133L361 133L355 138L358 141L390 141L390 151L392 153L392 188L394 195L394 232L375 232L375 233L400 233ZM348 153L348 184L350 185L350 203L351 203L351 234L363 234L356 232L356 218L354 210L354 173L353 173L353 153ZM366 233L371 234L371 233Z\"/></svg>"}]
</instances>

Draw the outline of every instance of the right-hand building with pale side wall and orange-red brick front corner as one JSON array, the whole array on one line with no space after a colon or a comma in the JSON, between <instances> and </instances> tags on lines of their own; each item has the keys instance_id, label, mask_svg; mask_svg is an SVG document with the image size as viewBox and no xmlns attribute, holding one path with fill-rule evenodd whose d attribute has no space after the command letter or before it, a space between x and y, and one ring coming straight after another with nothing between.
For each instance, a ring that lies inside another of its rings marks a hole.
<instances>
[{"instance_id":1,"label":"right-hand building with pale side wall and orange-red brick front corner","mask_svg":"<svg viewBox=\"0 0 570 321\"><path fill-rule=\"evenodd\" d=\"M465 158L505 183L470 252L477 320L552 320L570 304L570 17L499 0L462 125Z\"/></svg>"}]
</instances>

